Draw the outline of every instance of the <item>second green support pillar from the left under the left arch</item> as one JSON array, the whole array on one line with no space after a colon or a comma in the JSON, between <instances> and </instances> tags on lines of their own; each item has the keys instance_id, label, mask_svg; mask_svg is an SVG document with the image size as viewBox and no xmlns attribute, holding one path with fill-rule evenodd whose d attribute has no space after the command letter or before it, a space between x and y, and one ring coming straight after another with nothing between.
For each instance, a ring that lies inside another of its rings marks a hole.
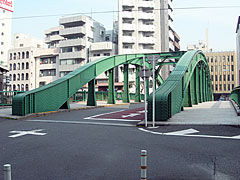
<instances>
[{"instance_id":1,"label":"second green support pillar from the left under the left arch","mask_svg":"<svg viewBox=\"0 0 240 180\"><path fill-rule=\"evenodd\" d=\"M116 98L115 98L115 70L110 69L109 71L109 76L108 76L108 98L107 98L107 103L108 104L116 104Z\"/></svg>"}]
</instances>

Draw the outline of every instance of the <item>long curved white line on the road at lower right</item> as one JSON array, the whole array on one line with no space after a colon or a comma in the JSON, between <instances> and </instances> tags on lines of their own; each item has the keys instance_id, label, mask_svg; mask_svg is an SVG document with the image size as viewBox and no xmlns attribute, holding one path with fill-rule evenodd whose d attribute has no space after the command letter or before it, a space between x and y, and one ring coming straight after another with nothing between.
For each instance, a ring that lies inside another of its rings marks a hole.
<instances>
[{"instance_id":1,"label":"long curved white line on the road at lower right","mask_svg":"<svg viewBox=\"0 0 240 180\"><path fill-rule=\"evenodd\" d=\"M239 139L240 140L240 135L239 136L210 136L210 135L194 135L194 134L178 134L178 133L160 133L160 132L154 132L154 131L149 131L143 128L138 128L140 131L151 133L151 134L156 134L156 135L166 135L166 136L182 136L182 137L200 137L200 138L215 138L215 139ZM193 132L194 129L192 129ZM190 129L186 130L186 132L189 131ZM199 132L195 130L196 132ZM181 132L181 131L177 131ZM193 132L195 133L195 132Z\"/></svg>"}]
</instances>

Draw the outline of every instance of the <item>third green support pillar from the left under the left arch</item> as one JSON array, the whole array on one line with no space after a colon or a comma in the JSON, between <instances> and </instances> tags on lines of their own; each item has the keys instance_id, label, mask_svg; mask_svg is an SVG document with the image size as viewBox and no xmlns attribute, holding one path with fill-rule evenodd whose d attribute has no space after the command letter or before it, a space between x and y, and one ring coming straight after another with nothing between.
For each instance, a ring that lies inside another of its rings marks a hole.
<instances>
[{"instance_id":1,"label":"third green support pillar from the left under the left arch","mask_svg":"<svg viewBox=\"0 0 240 180\"><path fill-rule=\"evenodd\" d=\"M129 68L128 64L123 65L123 74L124 74L124 87L123 87L123 102L129 103Z\"/></svg>"}]
</instances>

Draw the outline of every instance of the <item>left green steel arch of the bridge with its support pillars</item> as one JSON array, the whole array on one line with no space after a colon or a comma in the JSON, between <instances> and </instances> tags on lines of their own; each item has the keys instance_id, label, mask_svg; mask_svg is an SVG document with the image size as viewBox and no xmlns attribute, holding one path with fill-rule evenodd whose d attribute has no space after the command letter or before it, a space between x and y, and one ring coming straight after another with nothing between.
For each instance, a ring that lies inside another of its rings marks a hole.
<instances>
[{"instance_id":1,"label":"left green steel arch of the bridge with its support pillars","mask_svg":"<svg viewBox=\"0 0 240 180\"><path fill-rule=\"evenodd\" d=\"M131 54L106 57L92 61L79 67L68 75L40 88L18 94L13 98L12 114L24 116L26 114L56 111L58 109L68 109L68 100L80 88L88 83L87 105L96 106L95 98L95 78L105 71L109 72L108 103L114 104L114 68L124 65L124 95L123 101L129 102L128 92L128 64L136 65L136 73L143 65L143 57L149 55L159 55L160 59L180 59L185 52L169 52L154 54ZM152 69L151 64L146 62L146 66ZM158 75L159 84L163 82ZM136 76L136 101L140 100L140 79ZM149 83L148 83L149 84Z\"/></svg>"}]
</instances>

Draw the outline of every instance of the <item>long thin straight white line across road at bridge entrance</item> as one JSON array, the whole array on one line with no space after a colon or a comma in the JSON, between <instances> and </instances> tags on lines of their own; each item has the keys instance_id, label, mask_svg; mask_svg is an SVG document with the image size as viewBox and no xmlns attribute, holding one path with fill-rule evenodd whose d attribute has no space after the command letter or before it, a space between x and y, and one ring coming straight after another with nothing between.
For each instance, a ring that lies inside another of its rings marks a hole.
<instances>
[{"instance_id":1,"label":"long thin straight white line across road at bridge entrance","mask_svg":"<svg viewBox=\"0 0 240 180\"><path fill-rule=\"evenodd\" d=\"M56 120L26 120L29 122L45 122L45 123L64 123L64 124L90 124L90 125L103 125L103 126L124 126L136 127L131 124L116 124L116 123L95 123L95 122L82 122L82 121L56 121Z\"/></svg>"}]
</instances>

